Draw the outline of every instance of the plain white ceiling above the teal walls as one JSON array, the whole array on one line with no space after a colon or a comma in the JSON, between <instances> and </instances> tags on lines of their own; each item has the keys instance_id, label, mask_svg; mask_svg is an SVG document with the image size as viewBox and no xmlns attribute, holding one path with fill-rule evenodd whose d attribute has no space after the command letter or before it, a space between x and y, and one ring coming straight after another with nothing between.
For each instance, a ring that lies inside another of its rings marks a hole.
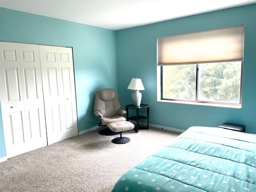
<instances>
[{"instance_id":1,"label":"plain white ceiling above the teal walls","mask_svg":"<svg viewBox=\"0 0 256 192\"><path fill-rule=\"evenodd\" d=\"M120 30L256 0L0 0L0 7Z\"/></svg>"}]
</instances>

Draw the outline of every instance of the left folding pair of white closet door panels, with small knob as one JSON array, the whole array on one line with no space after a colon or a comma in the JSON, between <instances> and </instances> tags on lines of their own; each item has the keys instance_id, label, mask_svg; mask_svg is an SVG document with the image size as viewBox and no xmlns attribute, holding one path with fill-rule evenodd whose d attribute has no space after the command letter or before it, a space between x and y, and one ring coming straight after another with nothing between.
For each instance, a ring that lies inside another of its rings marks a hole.
<instances>
[{"instance_id":1,"label":"left folding pair of white closet door panels, with small knob","mask_svg":"<svg viewBox=\"0 0 256 192\"><path fill-rule=\"evenodd\" d=\"M0 98L7 157L47 145L39 46L0 42Z\"/></svg>"}]
</instances>

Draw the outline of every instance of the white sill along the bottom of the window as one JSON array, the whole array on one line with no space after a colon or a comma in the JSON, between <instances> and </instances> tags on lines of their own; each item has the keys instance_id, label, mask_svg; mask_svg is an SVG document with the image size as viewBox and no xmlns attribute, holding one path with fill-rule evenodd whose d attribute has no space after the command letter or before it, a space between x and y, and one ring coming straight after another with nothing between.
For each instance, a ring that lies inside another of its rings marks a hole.
<instances>
[{"instance_id":1,"label":"white sill along the bottom of the window","mask_svg":"<svg viewBox=\"0 0 256 192\"><path fill-rule=\"evenodd\" d=\"M242 108L241 105L225 105L225 104L216 104L216 103L199 103L199 102L188 102L188 101L172 101L172 100L162 100L162 99L158 99L157 101L158 102L164 102L164 103L213 106L213 107L224 107L224 108L235 108L235 109L241 109Z\"/></svg>"}]
</instances>

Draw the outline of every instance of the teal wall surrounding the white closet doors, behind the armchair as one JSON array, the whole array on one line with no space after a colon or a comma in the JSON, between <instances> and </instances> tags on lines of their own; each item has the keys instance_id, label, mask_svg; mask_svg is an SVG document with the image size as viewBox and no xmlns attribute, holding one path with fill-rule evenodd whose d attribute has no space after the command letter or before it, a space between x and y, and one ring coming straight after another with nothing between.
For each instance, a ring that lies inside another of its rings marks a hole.
<instances>
[{"instance_id":1,"label":"teal wall surrounding the white closet doors, behind the armchair","mask_svg":"<svg viewBox=\"0 0 256 192\"><path fill-rule=\"evenodd\" d=\"M118 89L115 31L0 8L0 41L72 47L78 130L97 125L98 118L93 113L96 91ZM1 117L0 158L4 156Z\"/></svg>"}]
</instances>

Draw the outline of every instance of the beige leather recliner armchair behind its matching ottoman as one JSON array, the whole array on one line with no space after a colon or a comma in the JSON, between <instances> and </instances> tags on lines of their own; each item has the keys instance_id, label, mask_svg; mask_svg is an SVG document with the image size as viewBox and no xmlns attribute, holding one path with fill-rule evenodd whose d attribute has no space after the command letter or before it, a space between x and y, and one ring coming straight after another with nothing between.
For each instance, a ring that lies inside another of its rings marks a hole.
<instances>
[{"instance_id":1,"label":"beige leather recliner armchair behind its matching ottoman","mask_svg":"<svg viewBox=\"0 0 256 192\"><path fill-rule=\"evenodd\" d=\"M126 121L126 110L122 109L118 93L114 89L102 89L95 95L94 114L100 118L99 126L108 125L113 122ZM109 128L100 130L102 135L116 135Z\"/></svg>"}]
</instances>

